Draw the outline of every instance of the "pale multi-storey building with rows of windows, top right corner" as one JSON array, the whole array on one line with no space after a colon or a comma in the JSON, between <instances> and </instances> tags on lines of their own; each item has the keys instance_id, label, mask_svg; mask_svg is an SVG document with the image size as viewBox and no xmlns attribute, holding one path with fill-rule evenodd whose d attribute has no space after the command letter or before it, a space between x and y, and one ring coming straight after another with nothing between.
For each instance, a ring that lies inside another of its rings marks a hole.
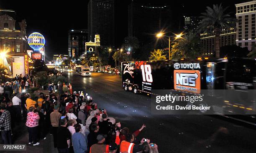
<instances>
[{"instance_id":1,"label":"pale multi-storey building with rows of windows, top right corner","mask_svg":"<svg viewBox=\"0 0 256 153\"><path fill-rule=\"evenodd\" d=\"M236 4L236 45L247 47L249 51L255 44L255 17L256 17L256 0Z\"/></svg>"}]
</instances>

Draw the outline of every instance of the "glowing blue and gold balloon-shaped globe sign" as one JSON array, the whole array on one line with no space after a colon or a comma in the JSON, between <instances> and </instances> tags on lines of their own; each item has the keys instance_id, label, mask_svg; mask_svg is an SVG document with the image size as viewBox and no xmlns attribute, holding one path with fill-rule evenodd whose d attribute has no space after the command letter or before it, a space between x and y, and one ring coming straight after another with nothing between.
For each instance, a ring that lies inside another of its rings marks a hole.
<instances>
[{"instance_id":1,"label":"glowing blue and gold balloon-shaped globe sign","mask_svg":"<svg viewBox=\"0 0 256 153\"><path fill-rule=\"evenodd\" d=\"M41 33L34 32L28 36L28 45L34 49L34 51L40 51L44 47L45 39Z\"/></svg>"}]
</instances>

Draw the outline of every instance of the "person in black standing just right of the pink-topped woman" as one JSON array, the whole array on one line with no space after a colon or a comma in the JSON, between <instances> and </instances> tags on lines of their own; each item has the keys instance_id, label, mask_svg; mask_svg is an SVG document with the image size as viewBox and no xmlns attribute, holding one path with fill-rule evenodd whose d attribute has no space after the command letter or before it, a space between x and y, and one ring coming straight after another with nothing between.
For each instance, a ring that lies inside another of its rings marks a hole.
<instances>
[{"instance_id":1,"label":"person in black standing just right of the pink-topped woman","mask_svg":"<svg viewBox=\"0 0 256 153\"><path fill-rule=\"evenodd\" d=\"M41 112L41 107L36 107L36 112L40 117L39 126L38 126L38 138L46 139L46 130L45 130L45 115Z\"/></svg>"}]
</instances>

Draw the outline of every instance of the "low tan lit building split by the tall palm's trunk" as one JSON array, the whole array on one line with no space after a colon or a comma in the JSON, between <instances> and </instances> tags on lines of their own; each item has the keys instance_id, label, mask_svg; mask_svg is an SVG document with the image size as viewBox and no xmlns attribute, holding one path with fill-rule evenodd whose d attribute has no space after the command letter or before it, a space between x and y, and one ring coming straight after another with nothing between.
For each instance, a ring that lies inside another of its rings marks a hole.
<instances>
[{"instance_id":1,"label":"low tan lit building split by the tall palm's trunk","mask_svg":"<svg viewBox=\"0 0 256 153\"><path fill-rule=\"evenodd\" d=\"M213 33L201 33L200 43L204 50L204 55L212 55L214 51L214 39L215 35ZM220 47L229 46L236 44L236 30L231 28L229 30L221 31L220 33Z\"/></svg>"}]
</instances>

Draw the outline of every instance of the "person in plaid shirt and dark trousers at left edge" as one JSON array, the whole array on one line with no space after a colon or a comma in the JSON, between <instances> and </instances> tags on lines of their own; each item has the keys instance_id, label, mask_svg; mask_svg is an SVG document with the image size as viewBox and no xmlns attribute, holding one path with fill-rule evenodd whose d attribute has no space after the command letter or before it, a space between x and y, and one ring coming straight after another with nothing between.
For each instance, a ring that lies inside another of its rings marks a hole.
<instances>
[{"instance_id":1,"label":"person in plaid shirt and dark trousers at left edge","mask_svg":"<svg viewBox=\"0 0 256 153\"><path fill-rule=\"evenodd\" d=\"M11 138L11 116L10 112L6 110L5 104L0 105L0 131L3 139L3 144L12 144Z\"/></svg>"}]
</instances>

